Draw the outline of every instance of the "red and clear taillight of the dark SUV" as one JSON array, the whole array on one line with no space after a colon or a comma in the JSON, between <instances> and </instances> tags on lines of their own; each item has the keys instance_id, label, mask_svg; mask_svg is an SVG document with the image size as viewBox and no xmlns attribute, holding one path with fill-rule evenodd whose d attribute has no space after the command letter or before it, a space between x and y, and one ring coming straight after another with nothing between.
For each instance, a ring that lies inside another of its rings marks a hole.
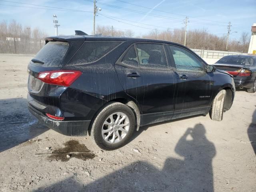
<instances>
[{"instance_id":1,"label":"red and clear taillight of the dark SUV","mask_svg":"<svg viewBox=\"0 0 256 192\"><path fill-rule=\"evenodd\" d=\"M41 81L48 83L48 84L54 84L54 85L60 85L60 86L70 86L80 75L82 72L80 71L44 71L40 72L38 74L38 79Z\"/></svg>"}]
</instances>

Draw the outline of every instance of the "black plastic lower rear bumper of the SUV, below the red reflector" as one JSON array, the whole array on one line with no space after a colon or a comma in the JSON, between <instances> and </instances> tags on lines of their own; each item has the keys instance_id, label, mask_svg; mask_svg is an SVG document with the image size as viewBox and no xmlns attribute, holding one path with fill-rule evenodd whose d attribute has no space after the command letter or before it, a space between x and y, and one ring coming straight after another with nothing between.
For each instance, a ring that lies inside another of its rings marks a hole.
<instances>
[{"instance_id":1,"label":"black plastic lower rear bumper of the SUV, below the red reflector","mask_svg":"<svg viewBox=\"0 0 256 192\"><path fill-rule=\"evenodd\" d=\"M52 120L45 116L42 112L34 108L28 103L29 111L36 117L40 122L46 125L48 128L64 134L66 136L86 136L88 128L90 126L89 121L57 121Z\"/></svg>"}]
</instances>

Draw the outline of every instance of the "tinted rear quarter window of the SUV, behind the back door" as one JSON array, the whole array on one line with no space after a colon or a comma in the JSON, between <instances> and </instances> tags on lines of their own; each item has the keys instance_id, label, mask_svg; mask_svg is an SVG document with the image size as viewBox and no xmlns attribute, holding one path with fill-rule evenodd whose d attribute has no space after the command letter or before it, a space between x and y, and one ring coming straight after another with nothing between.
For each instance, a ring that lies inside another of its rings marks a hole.
<instances>
[{"instance_id":1,"label":"tinted rear quarter window of the SUV, behind the back door","mask_svg":"<svg viewBox=\"0 0 256 192\"><path fill-rule=\"evenodd\" d=\"M108 42L108 41L88 41L84 42L82 47L78 50L78 52L74 55L74 57L70 60L68 65L74 64L86 64L94 62L108 52L116 48L120 45L121 42Z\"/></svg>"}]
</instances>

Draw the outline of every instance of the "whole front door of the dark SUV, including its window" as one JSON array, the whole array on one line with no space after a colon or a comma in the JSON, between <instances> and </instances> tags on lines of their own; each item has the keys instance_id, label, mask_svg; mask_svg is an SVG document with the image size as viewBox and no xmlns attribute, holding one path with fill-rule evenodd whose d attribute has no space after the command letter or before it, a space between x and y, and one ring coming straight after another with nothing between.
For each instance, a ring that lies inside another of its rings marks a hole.
<instances>
[{"instance_id":1,"label":"whole front door of the dark SUV, including its window","mask_svg":"<svg viewBox=\"0 0 256 192\"><path fill-rule=\"evenodd\" d=\"M209 110L212 98L212 78L204 64L189 50L170 46L176 64L178 90L173 118L203 114Z\"/></svg>"}]
</instances>

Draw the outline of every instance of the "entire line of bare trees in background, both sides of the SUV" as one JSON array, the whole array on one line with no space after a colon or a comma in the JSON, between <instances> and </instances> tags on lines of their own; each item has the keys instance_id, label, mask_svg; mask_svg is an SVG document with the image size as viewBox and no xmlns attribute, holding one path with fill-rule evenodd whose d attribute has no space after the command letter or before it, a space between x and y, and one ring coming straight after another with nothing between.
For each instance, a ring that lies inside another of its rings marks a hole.
<instances>
[{"instance_id":1,"label":"entire line of bare trees in background, both sides of the SUV","mask_svg":"<svg viewBox=\"0 0 256 192\"><path fill-rule=\"evenodd\" d=\"M97 26L96 33L106 36L135 37L132 30L117 30L112 26ZM183 29L151 30L148 34L136 38L166 40L184 44ZM0 53L36 54L44 46L44 38L48 35L39 28L22 26L15 20L0 23ZM239 39L230 38L228 51L248 52L250 34L243 32ZM226 35L210 34L206 29L187 31L186 46L195 49L226 50Z\"/></svg>"}]
</instances>

